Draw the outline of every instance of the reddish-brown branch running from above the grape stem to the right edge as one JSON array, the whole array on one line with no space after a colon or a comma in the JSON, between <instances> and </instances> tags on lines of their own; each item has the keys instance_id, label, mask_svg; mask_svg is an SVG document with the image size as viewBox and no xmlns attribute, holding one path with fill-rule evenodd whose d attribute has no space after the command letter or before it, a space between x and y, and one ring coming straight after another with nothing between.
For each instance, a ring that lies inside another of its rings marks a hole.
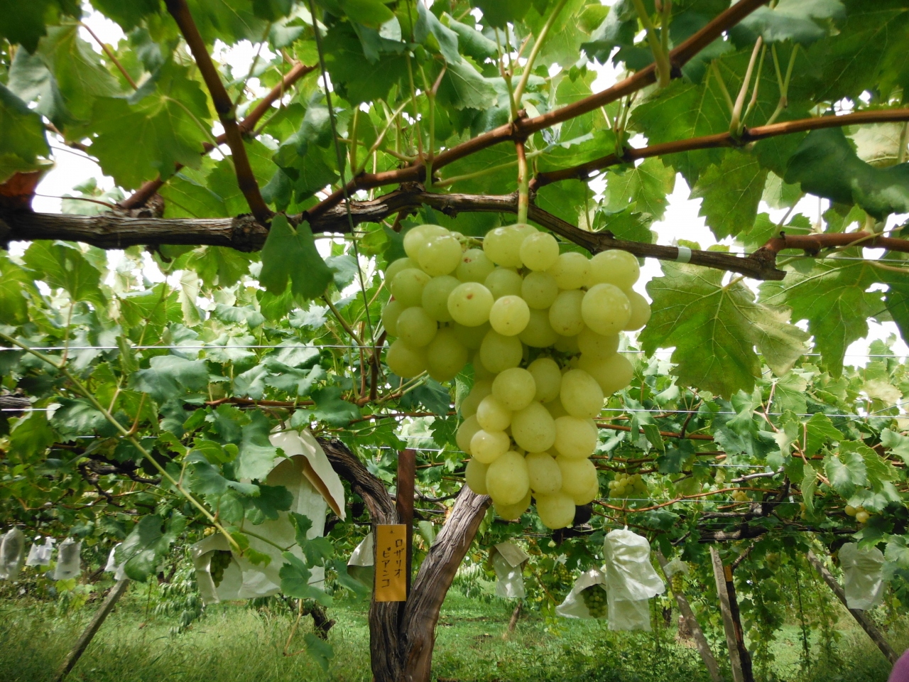
<instances>
[{"instance_id":1,"label":"reddish-brown branch running from above the grape stem to the right edge","mask_svg":"<svg viewBox=\"0 0 909 682\"><path fill-rule=\"evenodd\" d=\"M869 123L889 123L893 121L909 121L909 109L882 109L880 111L862 111L855 114L844 114L840 116L802 118L797 121L786 121L784 123L761 125L759 127L745 129L742 135L738 136L726 132L718 133L717 135L704 135L704 137L692 137L687 140L675 140L660 145L649 145L641 147L640 149L627 148L621 156L607 154L595 158L593 161L588 161L585 164L574 165L570 168L562 168L557 171L550 171L549 173L540 173L531 181L531 186L534 189L539 189L542 186L550 185L560 180L584 180L591 176L595 171L608 168L611 165L630 164L639 159L651 158L653 156L691 152L696 149L743 146L751 142L764 140L768 137L804 133L808 130L820 130L821 128L835 128L844 125L862 125Z\"/></svg>"}]
</instances>

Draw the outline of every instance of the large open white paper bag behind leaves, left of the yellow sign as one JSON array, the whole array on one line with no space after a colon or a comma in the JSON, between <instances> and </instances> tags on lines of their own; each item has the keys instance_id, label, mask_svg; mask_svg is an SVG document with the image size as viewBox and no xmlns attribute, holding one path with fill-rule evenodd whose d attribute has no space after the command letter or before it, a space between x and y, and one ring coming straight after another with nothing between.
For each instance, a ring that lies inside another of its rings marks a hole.
<instances>
[{"instance_id":1,"label":"large open white paper bag behind leaves, left of the yellow sign","mask_svg":"<svg viewBox=\"0 0 909 682\"><path fill-rule=\"evenodd\" d=\"M306 537L321 537L325 534L325 514L328 507L335 514L345 519L344 484L335 473L322 446L308 431L277 431L269 437L275 447L284 450L285 457L275 459L275 468L265 478L268 486L285 486L294 496L291 507L286 512L278 512L275 521L265 521L258 526L244 520L240 531L248 528L257 536L267 537L280 547L291 547L296 557L303 558L303 550L296 545L296 530L290 519L290 512L296 512L309 518L313 527ZM270 597L281 590L281 577L278 575L284 565L281 550L258 537L248 536L249 546L257 552L272 557L268 566L256 566L246 557L232 553L230 563L225 567L222 581L215 586L211 573L211 560L215 550L228 551L227 539L215 533L190 547L190 557L195 566L196 582L199 593L205 604L217 603L228 599L250 599ZM315 567L309 579L310 585L321 586L325 582L325 569Z\"/></svg>"}]
</instances>

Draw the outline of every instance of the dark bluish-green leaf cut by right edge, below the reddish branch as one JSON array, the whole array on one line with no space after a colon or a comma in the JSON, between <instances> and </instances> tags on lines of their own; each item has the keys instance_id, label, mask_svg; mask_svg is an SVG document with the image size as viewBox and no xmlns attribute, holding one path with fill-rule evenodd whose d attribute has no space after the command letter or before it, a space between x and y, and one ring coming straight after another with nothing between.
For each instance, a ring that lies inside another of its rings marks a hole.
<instances>
[{"instance_id":1,"label":"dark bluish-green leaf cut by right edge, below the reddish branch","mask_svg":"<svg viewBox=\"0 0 909 682\"><path fill-rule=\"evenodd\" d=\"M909 213L909 164L875 168L855 154L841 128L813 130L789 159L784 180L872 216Z\"/></svg>"}]
</instances>

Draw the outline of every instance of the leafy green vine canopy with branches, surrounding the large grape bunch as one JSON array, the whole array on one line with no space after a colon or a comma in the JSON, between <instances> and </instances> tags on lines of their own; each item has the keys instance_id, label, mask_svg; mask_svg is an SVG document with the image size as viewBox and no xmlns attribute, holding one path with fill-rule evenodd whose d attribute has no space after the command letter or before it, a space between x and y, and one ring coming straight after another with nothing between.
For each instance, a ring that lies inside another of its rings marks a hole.
<instances>
[{"instance_id":1,"label":"leafy green vine canopy with branches, surrounding the large grape bunch","mask_svg":"<svg viewBox=\"0 0 909 682\"><path fill-rule=\"evenodd\" d=\"M909 570L909 379L880 342L863 370L845 359L871 320L909 338L894 217L909 213L909 3L88 9L34 0L0 15L0 377L16 394L0 396L4 517L129 537L136 579L206 527L265 561L245 533L289 504L263 484L283 425L324 439L374 523L394 520L395 451L425 447L418 513L433 518L464 480L455 432L474 367L394 376L383 273L415 226L482 248L518 222L562 253L662 261L653 316L620 349L634 379L596 418L602 494L593 521L577 517L571 567L594 561L585 534L627 522L691 557L698 542L857 534L885 544L893 575ZM100 17L122 29L115 45L90 29ZM244 41L248 71L215 61ZM614 85L594 86L606 72ZM115 188L87 183L61 213L35 212L41 177L71 154ZM679 176L726 246L654 243ZM816 221L798 208L808 195L826 201ZM636 497L620 475L638 476ZM457 499L446 554L415 589L439 575L447 588L480 527L488 500ZM544 527L530 512L481 530ZM287 567L312 597L308 568ZM407 617L376 613L405 631Z\"/></svg>"}]
</instances>

